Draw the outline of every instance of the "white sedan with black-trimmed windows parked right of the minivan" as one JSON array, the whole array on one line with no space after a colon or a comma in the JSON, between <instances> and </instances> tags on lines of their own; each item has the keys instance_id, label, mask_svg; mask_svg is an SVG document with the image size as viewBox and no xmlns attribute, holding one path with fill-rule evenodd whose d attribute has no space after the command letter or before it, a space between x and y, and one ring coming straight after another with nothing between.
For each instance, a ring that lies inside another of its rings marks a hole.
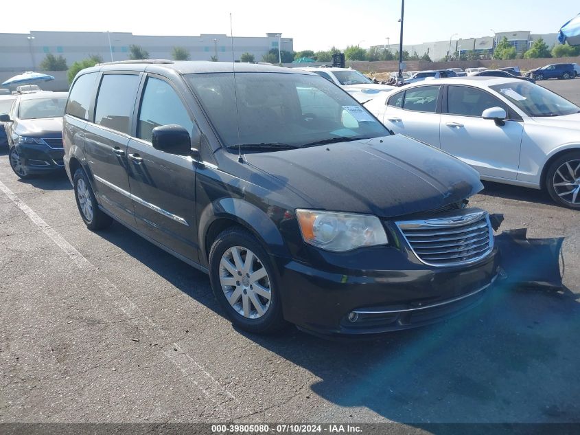
<instances>
[{"instance_id":1,"label":"white sedan with black-trimmed windows parked right of the minivan","mask_svg":"<svg viewBox=\"0 0 580 435\"><path fill-rule=\"evenodd\" d=\"M517 78L438 79L365 107L393 132L465 161L481 179L545 188L580 210L580 107L544 87Z\"/></svg>"}]
</instances>

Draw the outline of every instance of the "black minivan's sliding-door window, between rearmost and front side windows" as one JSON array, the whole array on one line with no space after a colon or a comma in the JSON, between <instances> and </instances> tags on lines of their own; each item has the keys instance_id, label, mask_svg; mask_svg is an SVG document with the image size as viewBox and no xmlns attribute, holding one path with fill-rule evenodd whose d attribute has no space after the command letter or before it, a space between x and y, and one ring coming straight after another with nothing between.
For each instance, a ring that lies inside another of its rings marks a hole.
<instances>
[{"instance_id":1,"label":"black minivan's sliding-door window, between rearmost and front side windows","mask_svg":"<svg viewBox=\"0 0 580 435\"><path fill-rule=\"evenodd\" d=\"M106 74L101 80L95 122L121 133L131 133L131 115L137 98L139 76Z\"/></svg>"}]
</instances>

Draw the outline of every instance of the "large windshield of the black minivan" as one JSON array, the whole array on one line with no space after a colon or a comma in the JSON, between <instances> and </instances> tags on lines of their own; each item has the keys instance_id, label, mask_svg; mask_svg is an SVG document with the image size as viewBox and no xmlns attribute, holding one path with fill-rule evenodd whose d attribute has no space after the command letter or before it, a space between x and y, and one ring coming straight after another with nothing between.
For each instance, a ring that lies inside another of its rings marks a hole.
<instances>
[{"instance_id":1,"label":"large windshield of the black minivan","mask_svg":"<svg viewBox=\"0 0 580 435\"><path fill-rule=\"evenodd\" d=\"M188 74L186 78L226 147L270 144L288 148L389 134L356 100L321 76L237 73L237 113L233 74Z\"/></svg>"}]
</instances>

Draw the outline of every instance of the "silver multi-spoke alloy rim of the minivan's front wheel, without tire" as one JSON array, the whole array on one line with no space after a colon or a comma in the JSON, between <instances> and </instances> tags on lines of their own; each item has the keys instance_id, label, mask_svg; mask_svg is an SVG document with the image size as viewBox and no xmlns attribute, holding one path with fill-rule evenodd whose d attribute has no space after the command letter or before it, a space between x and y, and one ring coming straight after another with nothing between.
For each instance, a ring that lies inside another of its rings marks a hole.
<instances>
[{"instance_id":1,"label":"silver multi-spoke alloy rim of the minivan's front wheel, without tire","mask_svg":"<svg viewBox=\"0 0 580 435\"><path fill-rule=\"evenodd\" d=\"M259 258L242 246L233 246L220 260L220 285L232 308L246 319L262 317L272 293L268 271Z\"/></svg>"}]
</instances>

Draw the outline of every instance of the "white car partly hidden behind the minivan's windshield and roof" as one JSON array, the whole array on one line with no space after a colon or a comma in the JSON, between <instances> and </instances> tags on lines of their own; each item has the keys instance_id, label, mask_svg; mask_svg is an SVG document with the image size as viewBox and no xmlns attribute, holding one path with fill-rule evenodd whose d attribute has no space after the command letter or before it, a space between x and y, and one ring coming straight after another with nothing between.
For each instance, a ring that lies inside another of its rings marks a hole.
<instances>
[{"instance_id":1,"label":"white car partly hidden behind the minivan's windshield and roof","mask_svg":"<svg viewBox=\"0 0 580 435\"><path fill-rule=\"evenodd\" d=\"M356 98L356 100L360 102L367 102L378 96L378 93L389 92L393 89L397 89L397 87L394 86L373 83L373 80L364 76L359 71L356 71L356 69L316 67L303 67L296 69L310 71L314 74L318 74L318 76L324 77L335 85L345 89L345 91L350 93L353 98Z\"/></svg>"}]
</instances>

